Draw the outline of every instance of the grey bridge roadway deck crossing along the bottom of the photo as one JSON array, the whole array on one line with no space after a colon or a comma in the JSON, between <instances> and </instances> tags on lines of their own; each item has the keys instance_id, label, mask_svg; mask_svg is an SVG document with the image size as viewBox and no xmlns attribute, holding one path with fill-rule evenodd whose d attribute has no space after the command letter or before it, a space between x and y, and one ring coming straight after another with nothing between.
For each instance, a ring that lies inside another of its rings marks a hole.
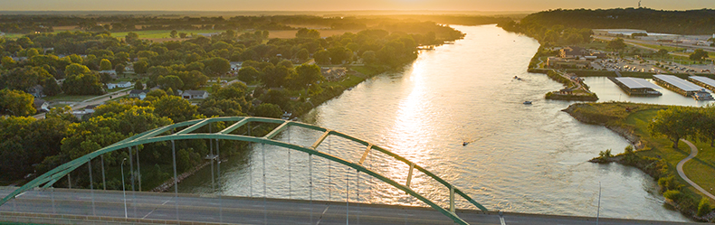
<instances>
[{"instance_id":1,"label":"grey bridge roadway deck crossing along the bottom of the photo","mask_svg":"<svg viewBox=\"0 0 715 225\"><path fill-rule=\"evenodd\" d=\"M13 190L0 190L5 196ZM174 193L136 192L136 201L127 192L130 219L176 220L238 224L345 224L346 202L277 200L244 197L200 196L179 194L177 207ZM431 208L378 205L350 202L349 223L353 224L453 224L453 221ZM312 219L311 219L312 211ZM14 201L0 206L0 212L33 212L92 216L89 190L56 189L25 192ZM552 216L490 211L457 211L470 224L596 224L596 218ZM95 191L94 215L102 220L124 218L122 192ZM3 217L0 217L3 220ZM146 222L142 220L129 220ZM312 221L312 223L310 222ZM100 221L97 221L100 222ZM599 224L699 224L653 220L604 219Z\"/></svg>"}]
</instances>

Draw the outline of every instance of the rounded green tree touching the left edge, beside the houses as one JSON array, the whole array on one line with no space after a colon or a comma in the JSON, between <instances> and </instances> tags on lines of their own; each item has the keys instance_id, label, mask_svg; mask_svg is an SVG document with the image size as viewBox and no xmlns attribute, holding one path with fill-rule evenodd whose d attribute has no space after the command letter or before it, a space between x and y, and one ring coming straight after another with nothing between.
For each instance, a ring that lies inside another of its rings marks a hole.
<instances>
[{"instance_id":1,"label":"rounded green tree touching the left edge, beside the houses","mask_svg":"<svg viewBox=\"0 0 715 225\"><path fill-rule=\"evenodd\" d=\"M0 89L0 113L24 117L33 115L34 97L20 90Z\"/></svg>"}]
</instances>

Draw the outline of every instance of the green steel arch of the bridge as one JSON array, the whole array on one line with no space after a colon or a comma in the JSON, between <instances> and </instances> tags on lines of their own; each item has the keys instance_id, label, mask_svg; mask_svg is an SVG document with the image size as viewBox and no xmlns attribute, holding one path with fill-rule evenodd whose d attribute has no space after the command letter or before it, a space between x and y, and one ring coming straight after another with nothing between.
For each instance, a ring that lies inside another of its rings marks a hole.
<instances>
[{"instance_id":1,"label":"green steel arch of the bridge","mask_svg":"<svg viewBox=\"0 0 715 225\"><path fill-rule=\"evenodd\" d=\"M226 127L224 130L221 130L221 131L218 131L215 133L191 133L198 128L204 127L208 124L215 123L215 122L234 122L234 124L229 127ZM231 132L238 129L239 127L248 125L251 122L278 124L280 126L274 128L270 133L268 133L265 136L243 136L243 135L230 134ZM311 130L323 132L323 135L320 136L319 139L317 139L315 141L315 143L311 146L293 145L290 143L281 142L281 141L272 139L273 137L280 134L281 131L283 131L286 128L291 127L291 126L304 127L304 128L308 128ZM166 134L169 131L172 131L172 130L178 129L178 128L182 128L182 127L185 127L185 128L176 131L176 133L162 136L162 134ZM338 156L329 155L328 153L318 151L317 150L318 146L326 138L328 138L328 136L339 136L339 137L346 138L350 141L356 142L360 145L364 145L364 146L366 146L366 151L360 158L359 162L351 162L346 159L342 159ZM281 146L281 147L297 150L300 152L304 152L309 155L318 155L319 157L328 159L333 162L337 162L339 164L346 165L348 167L358 170L359 172L367 173L368 175L373 176L384 183L388 183L388 184L396 187L397 189L399 189L403 192L406 192L407 194L412 195L413 197L420 200L421 202L426 203L427 205L431 206L434 210L441 212L443 215L447 216L448 218L452 219L454 222L456 222L458 224L468 224L468 223L466 221L462 220L454 212L455 211L455 207L454 207L455 194L462 196L462 198L464 200L472 203L472 205L476 206L481 211L487 211L487 209L484 208L484 206L482 206L480 203L474 201L472 199L472 197L470 197L466 193L462 192L460 189L455 187L452 183L447 183L439 176L424 169L424 167L422 167L418 164L415 164L413 162L410 162L409 160L405 159L405 157L396 155L383 147L373 145L373 144L371 144L367 141L364 141L362 139L359 139L357 137L348 136L344 133L341 133L341 132L338 132L335 130L331 130L328 128L318 127L318 126L305 124L305 123L301 123L301 122L297 122L297 121L283 120L283 119L277 119L277 118L267 118L267 117L211 117L211 118L205 118L205 119L195 119L195 120L185 121L185 122L181 122L181 123L168 125L166 127L157 127L155 129L138 134L136 136L128 137L122 141L115 143L115 144L103 147L97 151L90 153L90 154L82 155L81 157L76 158L69 163L62 164L47 173L43 173L42 175L40 175L37 178L30 181L29 183L24 184L22 187L16 189L14 192L5 196L5 198L0 200L0 205L5 204L5 202L10 201L11 199L14 199L16 196L18 196L19 194L21 194L23 192L29 191L33 188L40 187L41 185L42 185L42 188L50 187L50 186L52 186L53 183L56 183L57 181L59 181L64 175L77 169L82 164L90 162L92 159L94 159L100 155L110 153L112 151L116 151L119 149L129 148L129 147L135 146L135 145L143 145L143 144L163 142L163 141L173 141L173 140L189 140L189 139L221 139L221 140L245 141L245 142L261 143L261 144L267 144L267 145L276 145L276 146ZM380 173L377 173L375 171L367 169L367 167L363 166L363 163L364 163L367 155L371 152L371 150L377 150L380 153L392 156L396 160L398 160L402 163L405 163L407 166L409 166L410 169L409 169L408 175L407 175L407 182L405 184L397 183L396 181L394 181L390 178L387 178L385 175L382 175ZM413 191L412 188L409 187L414 169L417 169L419 172L422 172L422 173L428 175L430 178L434 179L438 183L443 184L444 187L446 187L447 189L450 190L450 195L449 195L450 196L450 200L449 200L450 207L449 207L449 209L444 209L444 208L440 207L435 202L432 202L431 200L425 198L423 195Z\"/></svg>"}]
</instances>

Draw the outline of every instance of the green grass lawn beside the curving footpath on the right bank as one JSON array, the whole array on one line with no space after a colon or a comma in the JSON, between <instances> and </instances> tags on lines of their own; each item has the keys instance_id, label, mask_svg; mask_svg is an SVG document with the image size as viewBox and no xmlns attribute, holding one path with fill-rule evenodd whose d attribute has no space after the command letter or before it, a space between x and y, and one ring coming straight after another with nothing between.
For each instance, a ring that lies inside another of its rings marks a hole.
<instances>
[{"instance_id":1,"label":"green grass lawn beside the curving footpath on the right bank","mask_svg":"<svg viewBox=\"0 0 715 225\"><path fill-rule=\"evenodd\" d=\"M634 109L628 112L624 108ZM690 155L690 147L680 142L678 148L673 148L672 142L665 136L651 136L648 131L648 126L653 121L653 117L663 108L666 107L635 103L594 103L580 105L578 110L585 114L585 117L595 119L599 123L632 129L634 135L641 137L644 145L642 150L636 152L637 155L663 158L668 164L669 173L674 174L681 183L685 184L683 192L701 195L700 192L682 180L676 171L678 162ZM683 171L693 182L715 194L715 191L711 191L715 190L715 179L713 179L713 176L715 176L715 147L710 147L709 143L702 143L698 140L689 139L689 141L697 145L701 150L699 150L694 159L691 159L683 166ZM712 200L710 202L715 203Z\"/></svg>"}]
</instances>

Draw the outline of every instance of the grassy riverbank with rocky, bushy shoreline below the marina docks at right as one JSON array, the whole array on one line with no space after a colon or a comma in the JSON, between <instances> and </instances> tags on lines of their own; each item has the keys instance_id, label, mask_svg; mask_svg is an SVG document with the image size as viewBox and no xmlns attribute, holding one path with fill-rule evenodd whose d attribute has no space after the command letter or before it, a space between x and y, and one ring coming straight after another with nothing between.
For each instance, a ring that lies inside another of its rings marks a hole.
<instances>
[{"instance_id":1,"label":"grassy riverbank with rocky, bushy shoreline below the marina docks at right","mask_svg":"<svg viewBox=\"0 0 715 225\"><path fill-rule=\"evenodd\" d=\"M688 216L691 220L712 221L710 216L698 217L698 203L700 202L700 192L697 192L691 185L686 185L685 181L677 175L675 164L689 155L688 149L672 148L669 141L660 136L651 136L647 131L650 121L659 110L668 108L663 105L637 104L624 102L607 103L577 103L570 105L563 111L567 112L578 121L605 126L615 133L624 136L635 146L635 150L626 149L623 154L610 155L610 149L602 151L599 157L591 160L593 163L618 163L634 166L644 173L648 173L654 180L658 181L660 192L668 199L669 204L674 209ZM713 152L715 148L710 145L696 142L705 151ZM710 149L708 149L710 148ZM693 180L699 183L706 190L713 188L711 184L711 174L715 173L715 168L709 167L710 155L702 156L700 160L689 164L690 170L686 173L694 175ZM700 166L698 164L703 164ZM710 165L711 166L711 165ZM710 176L706 175L710 174ZM677 192L677 197L673 197L668 192ZM710 191L712 192L712 191ZM710 201L713 204L713 201Z\"/></svg>"}]
</instances>

